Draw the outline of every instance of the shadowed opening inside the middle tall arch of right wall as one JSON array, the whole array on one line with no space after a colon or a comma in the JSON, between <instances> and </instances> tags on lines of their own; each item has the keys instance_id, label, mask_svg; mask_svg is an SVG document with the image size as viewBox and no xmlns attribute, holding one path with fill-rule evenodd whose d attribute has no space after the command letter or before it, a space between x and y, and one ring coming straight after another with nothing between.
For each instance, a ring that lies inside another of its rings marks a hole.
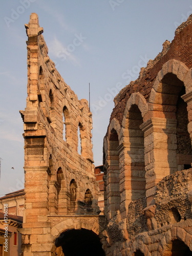
<instances>
[{"instance_id":1,"label":"shadowed opening inside the middle tall arch of right wall","mask_svg":"<svg viewBox=\"0 0 192 256\"><path fill-rule=\"evenodd\" d=\"M140 129L143 123L141 112L136 104L129 111L129 140L131 158L131 199L145 197L145 162L144 162L144 133Z\"/></svg>"}]
</instances>

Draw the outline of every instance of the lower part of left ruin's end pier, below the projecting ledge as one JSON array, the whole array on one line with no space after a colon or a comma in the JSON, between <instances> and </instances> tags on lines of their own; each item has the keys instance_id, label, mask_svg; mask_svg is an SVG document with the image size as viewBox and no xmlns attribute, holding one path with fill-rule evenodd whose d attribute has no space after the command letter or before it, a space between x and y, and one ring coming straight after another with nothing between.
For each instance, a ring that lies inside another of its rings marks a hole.
<instances>
[{"instance_id":1,"label":"lower part of left ruin's end pier, below the projecting ledge","mask_svg":"<svg viewBox=\"0 0 192 256\"><path fill-rule=\"evenodd\" d=\"M24 256L51 255L48 166L25 167ZM49 249L50 248L50 249Z\"/></svg>"}]
</instances>

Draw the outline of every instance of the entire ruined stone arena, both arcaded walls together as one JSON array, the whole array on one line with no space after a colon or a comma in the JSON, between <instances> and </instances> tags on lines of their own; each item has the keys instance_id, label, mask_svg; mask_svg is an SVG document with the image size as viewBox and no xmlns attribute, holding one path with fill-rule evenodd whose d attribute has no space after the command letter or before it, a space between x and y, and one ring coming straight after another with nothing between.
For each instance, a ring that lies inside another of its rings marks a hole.
<instances>
[{"instance_id":1,"label":"entire ruined stone arena, both arcaded walls together","mask_svg":"<svg viewBox=\"0 0 192 256\"><path fill-rule=\"evenodd\" d=\"M23 256L191 256L192 16L114 99L104 212L88 101L56 70L37 14L26 31Z\"/></svg>"}]
</instances>

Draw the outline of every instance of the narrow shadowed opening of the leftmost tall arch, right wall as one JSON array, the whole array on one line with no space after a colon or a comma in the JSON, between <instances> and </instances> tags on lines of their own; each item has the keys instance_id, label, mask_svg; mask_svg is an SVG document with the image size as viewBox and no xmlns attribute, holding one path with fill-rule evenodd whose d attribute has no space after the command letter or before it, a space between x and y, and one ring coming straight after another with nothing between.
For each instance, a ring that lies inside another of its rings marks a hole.
<instances>
[{"instance_id":1,"label":"narrow shadowed opening of the leftmost tall arch, right wall","mask_svg":"<svg viewBox=\"0 0 192 256\"><path fill-rule=\"evenodd\" d=\"M109 137L109 167L106 173L106 196L109 210L109 218L112 218L117 210L120 210L120 169L119 169L119 138L115 129L112 129Z\"/></svg>"}]
</instances>

